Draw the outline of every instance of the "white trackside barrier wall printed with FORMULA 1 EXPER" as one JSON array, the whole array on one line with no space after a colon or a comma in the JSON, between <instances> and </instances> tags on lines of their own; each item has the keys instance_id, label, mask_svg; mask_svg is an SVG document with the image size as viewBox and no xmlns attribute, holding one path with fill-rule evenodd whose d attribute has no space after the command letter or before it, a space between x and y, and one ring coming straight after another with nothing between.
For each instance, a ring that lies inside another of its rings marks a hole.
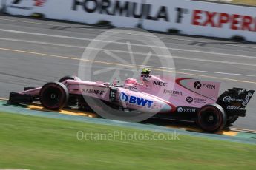
<instances>
[{"instance_id":1,"label":"white trackside barrier wall printed with FORMULA 1 EXPER","mask_svg":"<svg viewBox=\"0 0 256 170\"><path fill-rule=\"evenodd\" d=\"M3 1L3 0L1 0ZM7 13L256 42L256 7L188 0L6 0Z\"/></svg>"}]
</instances>

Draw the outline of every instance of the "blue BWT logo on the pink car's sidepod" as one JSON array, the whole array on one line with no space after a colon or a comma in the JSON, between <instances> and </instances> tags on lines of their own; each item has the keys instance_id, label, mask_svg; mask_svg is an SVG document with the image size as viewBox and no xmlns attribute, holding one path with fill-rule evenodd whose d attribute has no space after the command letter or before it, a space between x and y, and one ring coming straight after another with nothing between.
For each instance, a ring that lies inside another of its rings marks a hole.
<instances>
[{"instance_id":1,"label":"blue BWT logo on the pink car's sidepod","mask_svg":"<svg viewBox=\"0 0 256 170\"><path fill-rule=\"evenodd\" d=\"M138 98L133 95L131 95L129 98L129 96L126 95L124 92L120 93L119 99L120 101L128 102L131 104L137 104L138 106L145 106L146 104L148 104L148 108L151 108L151 105L154 103L154 101L149 101L144 98Z\"/></svg>"}]
</instances>

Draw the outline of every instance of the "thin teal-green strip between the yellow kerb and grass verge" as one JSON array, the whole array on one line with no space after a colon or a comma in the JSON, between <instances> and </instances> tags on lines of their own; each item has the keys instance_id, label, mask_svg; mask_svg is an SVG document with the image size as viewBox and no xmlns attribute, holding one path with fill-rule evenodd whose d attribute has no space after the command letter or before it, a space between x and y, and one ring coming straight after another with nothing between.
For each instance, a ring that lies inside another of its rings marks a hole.
<instances>
[{"instance_id":1,"label":"thin teal-green strip between the yellow kerb and grass verge","mask_svg":"<svg viewBox=\"0 0 256 170\"><path fill-rule=\"evenodd\" d=\"M128 127L128 128L134 128L134 129L140 129L140 130L149 130L153 132L168 132L168 133L178 132L183 135L191 135L196 137L207 137L207 138L217 139L217 140L229 140L232 142L256 144L255 134L248 135L246 133L239 132L237 137L231 137L226 135L189 132L183 129L156 126L152 124L128 123L123 121L107 120L107 119L101 119L101 118L88 118L85 116L63 115L57 112L42 112L42 111L36 111L36 110L29 110L19 106L7 106L5 103L6 102L4 101L0 101L0 112L11 112L19 115L30 115L30 116L36 116L36 117L42 117L42 118L70 120L70 121L77 121L77 122L83 122L83 123L96 123L96 124L102 124L102 125L121 126L121 127Z\"/></svg>"}]
</instances>

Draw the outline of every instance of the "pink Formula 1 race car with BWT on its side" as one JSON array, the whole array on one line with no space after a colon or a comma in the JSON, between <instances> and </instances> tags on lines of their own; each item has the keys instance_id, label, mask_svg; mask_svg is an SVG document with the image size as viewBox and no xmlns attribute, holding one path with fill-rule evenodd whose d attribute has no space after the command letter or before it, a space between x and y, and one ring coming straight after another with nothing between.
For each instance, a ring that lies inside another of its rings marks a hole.
<instances>
[{"instance_id":1,"label":"pink Formula 1 race car with BWT on its side","mask_svg":"<svg viewBox=\"0 0 256 170\"><path fill-rule=\"evenodd\" d=\"M28 104L40 101L46 109L58 110L70 104L88 108L86 98L96 98L116 108L156 112L153 118L193 120L206 132L218 132L238 117L246 116L246 105L254 90L228 89L218 96L220 83L193 78L174 78L174 87L149 70L142 72L140 82L128 78L119 85L82 81L66 76L42 87L25 87L23 92L10 92L8 103Z\"/></svg>"}]
</instances>

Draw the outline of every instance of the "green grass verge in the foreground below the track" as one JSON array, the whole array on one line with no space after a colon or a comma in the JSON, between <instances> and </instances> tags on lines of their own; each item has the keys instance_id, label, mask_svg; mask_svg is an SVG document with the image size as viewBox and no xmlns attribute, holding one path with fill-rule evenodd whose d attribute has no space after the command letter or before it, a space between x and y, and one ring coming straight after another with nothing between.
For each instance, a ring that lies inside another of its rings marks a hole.
<instances>
[{"instance_id":1,"label":"green grass verge in the foreground below the track","mask_svg":"<svg viewBox=\"0 0 256 170\"><path fill-rule=\"evenodd\" d=\"M0 113L0 169L255 169L256 145L180 140L77 140L76 133L157 133ZM157 134L158 135L158 134ZM165 134L166 135L166 134ZM96 137L96 136L94 136Z\"/></svg>"}]
</instances>

